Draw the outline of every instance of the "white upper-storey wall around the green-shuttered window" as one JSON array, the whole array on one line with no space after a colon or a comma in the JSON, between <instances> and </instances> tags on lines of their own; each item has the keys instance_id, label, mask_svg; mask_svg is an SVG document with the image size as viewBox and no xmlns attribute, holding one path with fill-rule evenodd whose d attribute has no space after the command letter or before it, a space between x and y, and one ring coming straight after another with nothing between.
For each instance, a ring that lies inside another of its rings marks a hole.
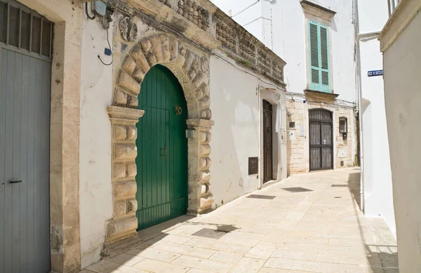
<instances>
[{"instance_id":1,"label":"white upper-storey wall around the green-shuttered window","mask_svg":"<svg viewBox=\"0 0 421 273\"><path fill-rule=\"evenodd\" d=\"M243 3L244 2L244 3ZM253 1L213 0L225 13L232 10L232 15L253 4ZM354 25L353 1L319 0L312 1L336 12L331 23L331 68L333 73L333 91L338 99L356 102L355 62L354 62ZM247 4L246 4L247 3ZM233 17L240 25L245 25L252 18L260 18L258 25L245 28L262 43L271 48L286 61L285 83L287 91L303 93L307 88L307 49L306 20L300 0L258 1L243 11L244 16ZM272 21L271 21L272 20Z\"/></svg>"}]
</instances>

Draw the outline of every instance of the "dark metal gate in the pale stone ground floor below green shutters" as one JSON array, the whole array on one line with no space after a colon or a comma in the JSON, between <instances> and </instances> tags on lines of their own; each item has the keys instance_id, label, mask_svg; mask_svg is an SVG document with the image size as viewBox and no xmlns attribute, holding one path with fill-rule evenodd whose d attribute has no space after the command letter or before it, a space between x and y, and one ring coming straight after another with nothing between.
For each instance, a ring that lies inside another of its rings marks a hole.
<instances>
[{"instance_id":1,"label":"dark metal gate in the pale stone ground floor below green shutters","mask_svg":"<svg viewBox=\"0 0 421 273\"><path fill-rule=\"evenodd\" d=\"M325 109L309 110L310 171L333 169L333 117Z\"/></svg>"}]
</instances>

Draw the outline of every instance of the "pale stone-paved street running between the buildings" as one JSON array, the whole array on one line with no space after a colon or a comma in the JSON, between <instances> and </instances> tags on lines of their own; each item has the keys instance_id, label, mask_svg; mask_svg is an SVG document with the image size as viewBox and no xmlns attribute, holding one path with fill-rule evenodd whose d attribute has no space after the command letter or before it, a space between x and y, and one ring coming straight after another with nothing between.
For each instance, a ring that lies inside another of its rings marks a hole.
<instances>
[{"instance_id":1,"label":"pale stone-paved street running between the buildings","mask_svg":"<svg viewBox=\"0 0 421 273\"><path fill-rule=\"evenodd\" d=\"M83 273L399 272L387 225L359 210L359 175L358 168L293 175L253 192L272 200L241 197L146 229L140 237L152 239ZM285 190L292 187L311 191ZM192 235L203 228L222 237Z\"/></svg>"}]
</instances>

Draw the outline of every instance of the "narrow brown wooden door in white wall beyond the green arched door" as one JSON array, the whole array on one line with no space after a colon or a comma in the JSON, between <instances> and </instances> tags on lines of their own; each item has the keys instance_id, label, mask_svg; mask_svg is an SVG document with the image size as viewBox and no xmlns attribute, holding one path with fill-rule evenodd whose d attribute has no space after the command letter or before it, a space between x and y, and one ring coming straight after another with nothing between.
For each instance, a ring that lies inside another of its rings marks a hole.
<instances>
[{"instance_id":1,"label":"narrow brown wooden door in white wall beyond the green arched door","mask_svg":"<svg viewBox=\"0 0 421 273\"><path fill-rule=\"evenodd\" d=\"M273 179L273 162L272 162L272 105L270 102L263 100L263 182Z\"/></svg>"}]
</instances>

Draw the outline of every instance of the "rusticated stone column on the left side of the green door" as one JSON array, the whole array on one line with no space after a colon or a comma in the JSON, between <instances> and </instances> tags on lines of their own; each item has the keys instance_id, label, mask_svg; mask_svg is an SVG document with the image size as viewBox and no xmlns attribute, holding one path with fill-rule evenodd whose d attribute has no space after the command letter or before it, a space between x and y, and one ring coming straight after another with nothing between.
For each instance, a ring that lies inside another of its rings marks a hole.
<instances>
[{"instance_id":1,"label":"rusticated stone column on the left side of the green door","mask_svg":"<svg viewBox=\"0 0 421 273\"><path fill-rule=\"evenodd\" d=\"M112 124L112 192L114 211L107 221L107 241L124 239L135 234L138 228L136 211L138 201L135 181L138 155L136 124L145 111L128 107L107 107Z\"/></svg>"}]
</instances>

